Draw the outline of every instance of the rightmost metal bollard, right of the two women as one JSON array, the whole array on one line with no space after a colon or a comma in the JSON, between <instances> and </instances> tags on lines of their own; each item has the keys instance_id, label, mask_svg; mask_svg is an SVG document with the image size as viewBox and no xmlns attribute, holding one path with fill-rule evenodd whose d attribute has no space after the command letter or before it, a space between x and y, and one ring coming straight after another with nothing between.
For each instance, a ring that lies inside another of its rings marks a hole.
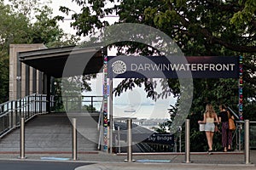
<instances>
[{"instance_id":1,"label":"rightmost metal bollard, right of the two women","mask_svg":"<svg viewBox=\"0 0 256 170\"><path fill-rule=\"evenodd\" d=\"M244 122L244 162L250 163L250 122L245 120Z\"/></svg>"}]
</instances>

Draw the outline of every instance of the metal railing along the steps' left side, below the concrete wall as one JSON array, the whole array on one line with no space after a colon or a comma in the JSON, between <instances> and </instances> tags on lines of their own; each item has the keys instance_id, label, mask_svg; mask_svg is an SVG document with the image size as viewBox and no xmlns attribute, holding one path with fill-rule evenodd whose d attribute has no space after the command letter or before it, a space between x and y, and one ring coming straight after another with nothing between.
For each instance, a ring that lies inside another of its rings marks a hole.
<instances>
[{"instance_id":1,"label":"metal railing along the steps' left side, below the concrete wall","mask_svg":"<svg viewBox=\"0 0 256 170\"><path fill-rule=\"evenodd\" d=\"M46 113L46 103L46 94L32 94L0 104L0 138L19 127L21 117L27 122L37 114Z\"/></svg>"}]
</instances>

